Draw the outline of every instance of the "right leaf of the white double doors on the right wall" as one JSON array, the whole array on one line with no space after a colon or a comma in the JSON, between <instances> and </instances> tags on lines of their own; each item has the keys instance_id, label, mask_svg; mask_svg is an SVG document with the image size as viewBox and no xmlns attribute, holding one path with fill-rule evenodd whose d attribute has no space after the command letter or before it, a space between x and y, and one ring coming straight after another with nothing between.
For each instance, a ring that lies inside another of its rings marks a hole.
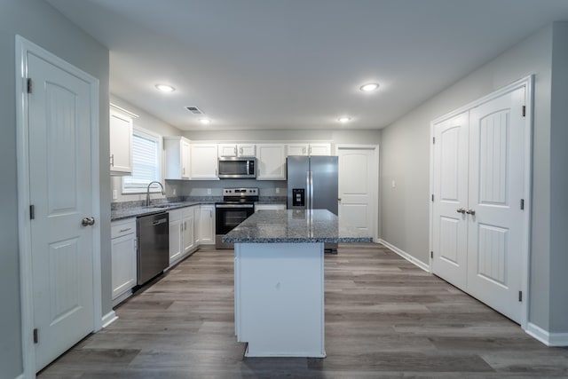
<instances>
[{"instance_id":1,"label":"right leaf of the white double doors on the right wall","mask_svg":"<svg viewBox=\"0 0 568 379\"><path fill-rule=\"evenodd\" d=\"M525 88L470 112L468 289L520 322Z\"/></svg>"}]
</instances>

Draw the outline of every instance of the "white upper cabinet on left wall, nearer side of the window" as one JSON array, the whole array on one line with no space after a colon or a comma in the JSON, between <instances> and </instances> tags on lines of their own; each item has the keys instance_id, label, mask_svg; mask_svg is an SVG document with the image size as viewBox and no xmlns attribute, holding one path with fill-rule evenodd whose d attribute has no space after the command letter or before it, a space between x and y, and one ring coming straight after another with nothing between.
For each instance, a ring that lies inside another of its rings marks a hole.
<instances>
[{"instance_id":1,"label":"white upper cabinet on left wall, nearer side of the window","mask_svg":"<svg viewBox=\"0 0 568 379\"><path fill-rule=\"evenodd\" d=\"M132 175L132 117L110 108L110 175Z\"/></svg>"}]
</instances>

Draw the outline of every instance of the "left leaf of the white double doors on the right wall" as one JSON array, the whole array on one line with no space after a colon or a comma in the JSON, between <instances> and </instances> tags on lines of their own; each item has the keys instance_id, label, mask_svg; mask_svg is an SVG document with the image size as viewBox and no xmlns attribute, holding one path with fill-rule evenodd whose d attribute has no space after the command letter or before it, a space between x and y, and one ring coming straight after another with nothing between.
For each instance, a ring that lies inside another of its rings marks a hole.
<instances>
[{"instance_id":1,"label":"left leaf of the white double doors on the right wall","mask_svg":"<svg viewBox=\"0 0 568 379\"><path fill-rule=\"evenodd\" d=\"M434 125L432 272L466 290L468 112Z\"/></svg>"}]
</instances>

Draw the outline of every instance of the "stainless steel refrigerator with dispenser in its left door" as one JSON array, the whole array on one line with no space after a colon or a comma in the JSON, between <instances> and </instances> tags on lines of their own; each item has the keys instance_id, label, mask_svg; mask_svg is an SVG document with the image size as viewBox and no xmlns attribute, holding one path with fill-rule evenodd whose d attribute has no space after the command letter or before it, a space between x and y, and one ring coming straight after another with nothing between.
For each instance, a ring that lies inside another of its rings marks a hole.
<instances>
[{"instance_id":1,"label":"stainless steel refrigerator with dispenser in its left door","mask_svg":"<svg viewBox=\"0 0 568 379\"><path fill-rule=\"evenodd\" d=\"M337 215L336 156L288 156L288 209L327 209Z\"/></svg>"}]
</instances>

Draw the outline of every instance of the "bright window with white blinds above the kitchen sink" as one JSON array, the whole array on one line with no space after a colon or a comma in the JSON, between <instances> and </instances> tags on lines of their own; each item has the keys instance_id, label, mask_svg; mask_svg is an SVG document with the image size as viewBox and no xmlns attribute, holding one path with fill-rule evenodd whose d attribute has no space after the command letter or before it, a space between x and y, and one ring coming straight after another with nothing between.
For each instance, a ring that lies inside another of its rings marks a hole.
<instances>
[{"instance_id":1,"label":"bright window with white blinds above the kitchen sink","mask_svg":"<svg viewBox=\"0 0 568 379\"><path fill-rule=\"evenodd\" d=\"M134 127L132 132L132 176L122 178L122 193L145 193L154 180L161 180L162 137ZM160 192L152 186L150 192Z\"/></svg>"}]
</instances>

